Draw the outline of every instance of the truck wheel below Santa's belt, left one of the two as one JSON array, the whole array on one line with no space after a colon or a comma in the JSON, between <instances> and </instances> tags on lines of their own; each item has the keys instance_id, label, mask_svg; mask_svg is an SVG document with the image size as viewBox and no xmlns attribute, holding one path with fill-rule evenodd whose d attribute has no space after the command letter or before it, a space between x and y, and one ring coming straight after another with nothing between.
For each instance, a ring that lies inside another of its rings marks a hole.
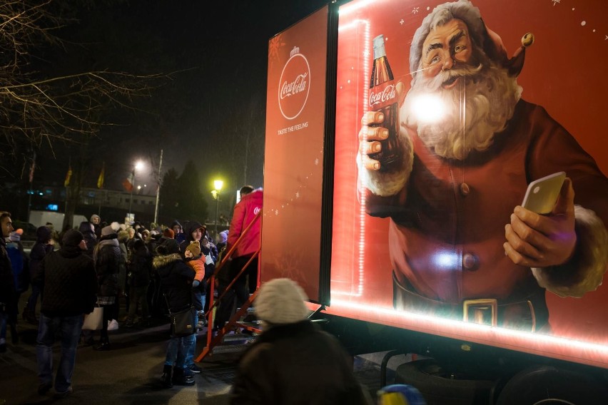
<instances>
[{"instance_id":1,"label":"truck wheel below Santa's belt, left one of the two","mask_svg":"<svg viewBox=\"0 0 608 405\"><path fill-rule=\"evenodd\" d=\"M423 359L398 366L395 384L414 386L427 405L487 405L495 380L479 379L446 369L434 359Z\"/></svg>"}]
</instances>

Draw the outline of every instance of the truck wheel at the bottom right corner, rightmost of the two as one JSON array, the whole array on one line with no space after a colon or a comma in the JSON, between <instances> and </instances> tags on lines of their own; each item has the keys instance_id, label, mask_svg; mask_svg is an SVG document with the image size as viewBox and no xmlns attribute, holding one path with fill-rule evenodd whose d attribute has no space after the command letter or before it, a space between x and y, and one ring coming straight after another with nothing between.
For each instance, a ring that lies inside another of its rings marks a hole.
<instances>
[{"instance_id":1,"label":"truck wheel at the bottom right corner, rightmost of the two","mask_svg":"<svg viewBox=\"0 0 608 405\"><path fill-rule=\"evenodd\" d=\"M515 374L497 405L601 405L606 389L593 376L553 366L534 366Z\"/></svg>"}]
</instances>

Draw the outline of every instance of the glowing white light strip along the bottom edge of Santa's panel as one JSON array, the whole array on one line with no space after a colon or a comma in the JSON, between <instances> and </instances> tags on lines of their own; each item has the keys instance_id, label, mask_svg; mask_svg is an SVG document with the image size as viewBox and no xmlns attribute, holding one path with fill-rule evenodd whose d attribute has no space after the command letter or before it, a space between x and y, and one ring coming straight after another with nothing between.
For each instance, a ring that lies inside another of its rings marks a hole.
<instances>
[{"instance_id":1,"label":"glowing white light strip along the bottom edge of Santa's panel","mask_svg":"<svg viewBox=\"0 0 608 405\"><path fill-rule=\"evenodd\" d=\"M495 347L514 349L519 352L529 352L545 357L568 359L579 363L586 362L587 364L608 368L608 346L600 343L490 327L484 324L398 311L389 307L373 307L342 299L332 299L327 312L349 318L363 318L362 320L370 320L369 318L375 315L375 319L371 322L381 324L395 325L394 321L402 320L406 322L401 325L403 329L437 334L452 339L470 340L480 344L490 344ZM344 315L344 313L348 315ZM387 319L387 317L391 319Z\"/></svg>"}]
</instances>

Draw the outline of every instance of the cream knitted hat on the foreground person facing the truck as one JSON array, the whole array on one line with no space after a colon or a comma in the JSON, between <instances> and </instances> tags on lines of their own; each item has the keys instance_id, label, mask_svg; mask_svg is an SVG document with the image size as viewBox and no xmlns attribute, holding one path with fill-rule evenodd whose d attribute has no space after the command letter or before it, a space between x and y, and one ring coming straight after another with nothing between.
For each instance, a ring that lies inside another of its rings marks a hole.
<instances>
[{"instance_id":1,"label":"cream knitted hat on the foreground person facing the truck","mask_svg":"<svg viewBox=\"0 0 608 405\"><path fill-rule=\"evenodd\" d=\"M307 299L296 282L280 278L263 284L253 304L259 319L269 324L293 324L308 318Z\"/></svg>"}]
</instances>

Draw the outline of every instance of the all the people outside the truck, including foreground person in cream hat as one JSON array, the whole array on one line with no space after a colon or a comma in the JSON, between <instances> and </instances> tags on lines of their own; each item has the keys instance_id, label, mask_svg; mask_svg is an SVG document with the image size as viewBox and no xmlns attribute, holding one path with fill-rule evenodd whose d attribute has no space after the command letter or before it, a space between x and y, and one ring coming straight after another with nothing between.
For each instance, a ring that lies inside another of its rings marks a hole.
<instances>
[{"instance_id":1,"label":"all the people outside the truck, including foreground person in cream hat","mask_svg":"<svg viewBox=\"0 0 608 405\"><path fill-rule=\"evenodd\" d=\"M261 189L245 187L241 191L243 197L249 197L237 204L230 230L217 235L217 243L211 242L211 235L201 222L188 221L182 226L174 221L171 227L151 225L151 229L146 229L138 222L132 226L118 222L108 225L98 215L92 215L78 229L66 229L60 235L54 235L49 227L39 227L28 258L19 248L20 233L12 227L10 213L0 212L1 348L6 350L6 325L11 326L13 343L17 343L19 294L28 290L24 280L31 284L31 296L21 315L26 322L37 322L39 329L36 360L40 395L53 388L56 397L71 394L78 343L99 351L110 350L108 330L117 329L119 324L126 328L148 327L152 314L166 319L167 314L194 307L198 331L205 322L202 315L208 307L207 282L216 262L226 250L235 247L227 274L236 276L240 269L235 267L245 266L260 250L259 225L253 227L249 239L243 237L234 245L249 222L255 221L262 202ZM255 291L257 267L256 262L255 270L247 268L239 276L244 280L234 284L234 290L227 294L230 302L221 302L219 309L234 310L242 304L244 294ZM36 319L38 297L41 304ZM263 333L240 360L232 404L288 404L292 403L290 399L304 397L311 404L372 403L356 381L351 360L338 340L308 319L306 299L303 289L288 279L271 280L260 289L254 304ZM121 303L126 307L123 317L119 315ZM96 306L103 307L98 342L96 332L82 330L83 314L91 314ZM226 319L219 318L221 325ZM61 356L54 377L52 348L58 338ZM194 374L201 372L194 362L195 350L196 332L186 336L171 334L161 375L164 387L195 384ZM283 372L292 369L290 364L300 364L293 369L293 376ZM275 381L274 376L279 374L271 369L280 371L285 379ZM324 378L315 379L317 389L308 389L301 384L305 379L298 377L304 376L302 373Z\"/></svg>"}]
</instances>

